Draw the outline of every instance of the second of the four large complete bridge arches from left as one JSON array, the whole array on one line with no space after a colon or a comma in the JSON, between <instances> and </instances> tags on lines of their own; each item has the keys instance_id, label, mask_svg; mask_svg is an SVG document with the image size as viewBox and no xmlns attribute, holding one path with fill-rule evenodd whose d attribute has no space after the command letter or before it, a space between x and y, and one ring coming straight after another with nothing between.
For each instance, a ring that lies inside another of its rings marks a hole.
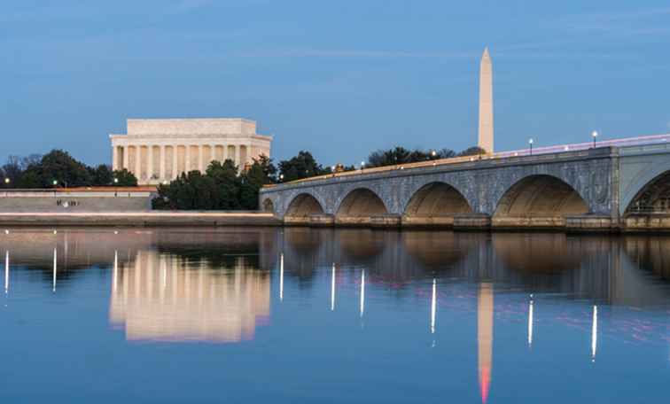
<instances>
[{"instance_id":1,"label":"second of the four large complete bridge arches from left","mask_svg":"<svg viewBox=\"0 0 670 404\"><path fill-rule=\"evenodd\" d=\"M340 223L368 224L371 216L388 214L389 210L374 190L360 187L344 194L334 212Z\"/></svg>"}]
</instances>

